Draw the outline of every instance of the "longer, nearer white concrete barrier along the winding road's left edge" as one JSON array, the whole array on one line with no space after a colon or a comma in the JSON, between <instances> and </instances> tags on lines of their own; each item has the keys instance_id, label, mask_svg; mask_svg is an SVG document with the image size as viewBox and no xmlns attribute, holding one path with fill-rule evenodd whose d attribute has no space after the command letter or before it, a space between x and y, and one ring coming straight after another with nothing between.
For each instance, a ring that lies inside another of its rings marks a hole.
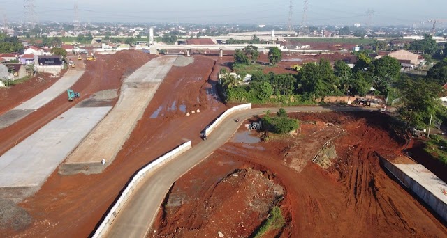
<instances>
[{"instance_id":1,"label":"longer, nearer white concrete barrier along the winding road's left edge","mask_svg":"<svg viewBox=\"0 0 447 238\"><path fill-rule=\"evenodd\" d=\"M105 233L107 233L108 228L112 224L113 220L115 220L122 207L124 207L124 204L126 204L126 201L131 196L133 190L135 189L135 187L137 187L138 182L140 182L144 177L146 177L147 173L152 172L153 170L159 168L160 166L163 166L163 164L166 164L168 161L174 159L179 154L182 154L183 152L189 150L190 148L191 148L191 141L183 143L174 150L171 150L170 152L163 154L158 159L152 161L152 163L140 169L140 171L138 171L138 173L132 177L131 182L129 182L124 191L122 191L117 202L115 203L115 205L113 205L112 209L110 209L110 211L105 216L104 220L101 222L98 229L96 229L96 232L92 237L93 238L103 237Z\"/></svg>"}]
</instances>

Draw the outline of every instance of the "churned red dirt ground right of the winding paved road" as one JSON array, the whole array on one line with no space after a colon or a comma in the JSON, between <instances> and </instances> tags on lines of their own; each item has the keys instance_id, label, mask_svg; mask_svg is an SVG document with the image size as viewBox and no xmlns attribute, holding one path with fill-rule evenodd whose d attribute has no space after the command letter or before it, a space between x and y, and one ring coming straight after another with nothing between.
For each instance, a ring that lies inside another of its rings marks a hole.
<instances>
[{"instance_id":1,"label":"churned red dirt ground right of the winding paved road","mask_svg":"<svg viewBox=\"0 0 447 238\"><path fill-rule=\"evenodd\" d=\"M251 177L233 187L223 181L235 170L253 169L284 187L279 206L286 224L265 237L446 237L443 223L381 168L376 153L393 158L405 144L402 136L389 132L386 116L365 112L293 117L302 120L301 134L260 143L230 141L186 173L170 190L148 236L217 237L219 231L229 237L252 235L265 219L265 210L254 212L255 219L240 221L240 216L253 212L244 198L263 200L263 196L239 188L245 183L264 184L263 179ZM321 143L339 130L344 134L332 140L336 153L332 165L323 169L312 163ZM241 128L237 134L245 132ZM239 200L220 207L233 198ZM270 207L273 204L270 200ZM210 216L215 207L233 212Z\"/></svg>"}]
</instances>

